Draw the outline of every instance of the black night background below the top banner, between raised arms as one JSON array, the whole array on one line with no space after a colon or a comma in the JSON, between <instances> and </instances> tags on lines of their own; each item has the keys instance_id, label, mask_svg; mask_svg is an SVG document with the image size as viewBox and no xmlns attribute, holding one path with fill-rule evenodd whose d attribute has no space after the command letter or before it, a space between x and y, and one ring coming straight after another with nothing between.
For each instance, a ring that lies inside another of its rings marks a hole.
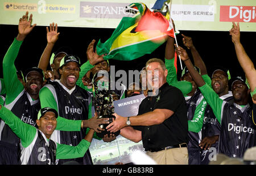
<instances>
[{"instance_id":1,"label":"black night background below the top banner, between raised arms","mask_svg":"<svg viewBox=\"0 0 256 176\"><path fill-rule=\"evenodd\" d=\"M230 28L232 23L230 22ZM113 33L114 29L108 28L75 28L75 27L58 27L60 32L59 40L56 42L53 51L56 51L61 46L69 46L73 52L81 59L81 63L87 61L86 49L89 43L95 39L96 43L99 39L105 42ZM208 69L208 74L211 75L212 66L221 65L229 68L231 76L244 75L240 64L237 61L236 51L231 41L229 32L217 31L180 31L186 36L192 37L193 44L199 51ZM0 62L5 56L6 51L18 35L18 25L0 25L1 49ZM255 39L256 32L241 32L241 42L251 60L255 63ZM177 35L177 42L182 44L182 36ZM47 45L46 27L36 26L28 35L19 50L18 58L16 58L16 68L25 71L27 68L38 66L40 56ZM117 70L141 70L146 61L156 57L164 60L164 50L166 43L161 45L153 53L144 55L141 58L133 61L116 61L110 60L110 65L115 65ZM184 48L184 46L183 46ZM190 51L188 50L188 54ZM178 65L178 77L181 74L180 62ZM183 64L184 67L184 64ZM48 68L50 69L50 68ZM128 74L128 72L127 72ZM2 64L0 65L0 78L2 78ZM116 78L115 80L117 80ZM128 81L128 80L127 80Z\"/></svg>"}]
</instances>

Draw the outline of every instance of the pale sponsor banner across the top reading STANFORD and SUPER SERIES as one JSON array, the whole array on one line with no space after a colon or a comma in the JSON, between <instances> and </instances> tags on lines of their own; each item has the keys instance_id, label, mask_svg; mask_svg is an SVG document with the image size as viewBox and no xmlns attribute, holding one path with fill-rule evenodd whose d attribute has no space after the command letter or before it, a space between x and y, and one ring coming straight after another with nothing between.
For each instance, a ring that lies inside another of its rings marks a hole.
<instances>
[{"instance_id":1,"label":"pale sponsor banner across the top reading STANFORD and SUPER SERIES","mask_svg":"<svg viewBox=\"0 0 256 176\"><path fill-rule=\"evenodd\" d=\"M55 22L59 27L116 28L124 16L133 16L126 11L127 5L143 2L152 8L155 1L1 0L0 24L17 25L24 12L29 11L37 25ZM172 0L171 18L178 30L229 31L234 21L241 22L241 31L255 31L255 7L255 0Z\"/></svg>"}]
</instances>

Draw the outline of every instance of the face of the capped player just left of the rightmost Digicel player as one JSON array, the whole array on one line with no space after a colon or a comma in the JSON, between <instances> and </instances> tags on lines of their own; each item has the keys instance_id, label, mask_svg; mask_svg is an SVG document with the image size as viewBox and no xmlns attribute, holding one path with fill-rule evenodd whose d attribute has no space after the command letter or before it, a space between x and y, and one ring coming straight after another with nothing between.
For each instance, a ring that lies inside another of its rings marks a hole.
<instances>
[{"instance_id":1,"label":"face of the capped player just left of the rightmost Digicel player","mask_svg":"<svg viewBox=\"0 0 256 176\"><path fill-rule=\"evenodd\" d=\"M226 95L228 93L228 77L224 71L217 70L212 75L212 88L219 95Z\"/></svg>"}]
</instances>

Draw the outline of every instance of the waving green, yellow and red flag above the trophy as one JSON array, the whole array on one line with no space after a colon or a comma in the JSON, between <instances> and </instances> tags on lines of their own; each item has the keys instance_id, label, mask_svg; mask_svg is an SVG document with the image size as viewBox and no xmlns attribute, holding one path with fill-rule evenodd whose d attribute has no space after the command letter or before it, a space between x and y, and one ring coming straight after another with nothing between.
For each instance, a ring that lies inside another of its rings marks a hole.
<instances>
[{"instance_id":1,"label":"waving green, yellow and red flag above the trophy","mask_svg":"<svg viewBox=\"0 0 256 176\"><path fill-rule=\"evenodd\" d=\"M167 40L167 35L174 37L168 10L166 14L152 12L144 3L131 3L128 8L137 14L123 17L105 43L98 41L97 54L107 54L105 60L131 61L152 53Z\"/></svg>"}]
</instances>

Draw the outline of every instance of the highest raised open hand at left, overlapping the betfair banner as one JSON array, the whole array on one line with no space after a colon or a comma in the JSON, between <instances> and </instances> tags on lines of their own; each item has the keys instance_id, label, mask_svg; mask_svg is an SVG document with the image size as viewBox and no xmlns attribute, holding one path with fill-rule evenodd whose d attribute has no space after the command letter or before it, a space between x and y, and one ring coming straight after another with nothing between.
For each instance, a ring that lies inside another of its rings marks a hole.
<instances>
[{"instance_id":1,"label":"highest raised open hand at left, overlapping the betfair banner","mask_svg":"<svg viewBox=\"0 0 256 176\"><path fill-rule=\"evenodd\" d=\"M17 40L23 41L24 38L34 29L36 24L33 24L31 26L32 22L32 14L30 14L30 18L28 19L28 11L26 12L26 15L23 15L22 18L19 19L18 24L18 31L19 34L17 36Z\"/></svg>"}]
</instances>

